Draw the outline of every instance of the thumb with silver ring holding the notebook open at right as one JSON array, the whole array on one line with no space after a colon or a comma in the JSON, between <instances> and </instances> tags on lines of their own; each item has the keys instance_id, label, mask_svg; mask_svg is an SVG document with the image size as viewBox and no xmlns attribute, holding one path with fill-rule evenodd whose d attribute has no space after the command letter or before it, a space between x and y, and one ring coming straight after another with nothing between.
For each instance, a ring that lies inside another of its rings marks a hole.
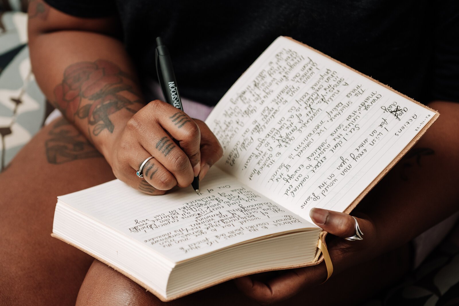
<instances>
[{"instance_id":1,"label":"thumb with silver ring holding the notebook open at right","mask_svg":"<svg viewBox=\"0 0 459 306\"><path fill-rule=\"evenodd\" d=\"M322 208L312 208L309 216L315 224L330 234L341 238L347 238L355 235L355 220L348 214L329 211ZM365 233L367 220L356 218L359 228Z\"/></svg>"}]
</instances>

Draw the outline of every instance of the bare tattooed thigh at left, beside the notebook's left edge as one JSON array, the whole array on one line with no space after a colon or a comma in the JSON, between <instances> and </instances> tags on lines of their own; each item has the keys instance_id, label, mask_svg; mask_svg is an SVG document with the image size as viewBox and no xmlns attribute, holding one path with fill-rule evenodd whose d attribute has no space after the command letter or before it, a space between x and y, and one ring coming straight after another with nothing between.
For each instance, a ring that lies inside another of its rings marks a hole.
<instances>
[{"instance_id":1,"label":"bare tattooed thigh at left, beside the notebook's left edge","mask_svg":"<svg viewBox=\"0 0 459 306\"><path fill-rule=\"evenodd\" d=\"M113 179L105 159L57 119L0 174L0 305L74 305L92 257L50 236L56 196Z\"/></svg>"}]
</instances>

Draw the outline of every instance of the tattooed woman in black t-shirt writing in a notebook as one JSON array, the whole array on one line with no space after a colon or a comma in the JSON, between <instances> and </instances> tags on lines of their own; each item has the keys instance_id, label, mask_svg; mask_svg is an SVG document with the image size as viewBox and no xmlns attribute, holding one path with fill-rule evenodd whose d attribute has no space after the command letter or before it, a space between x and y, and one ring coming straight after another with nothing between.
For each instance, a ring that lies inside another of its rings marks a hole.
<instances>
[{"instance_id":1,"label":"tattooed woman in black t-shirt writing in a notebook","mask_svg":"<svg viewBox=\"0 0 459 306\"><path fill-rule=\"evenodd\" d=\"M204 178L222 149L205 123L191 118L203 120L279 35L387 83L441 116L364 198L355 219L311 212L333 234L328 248L334 275L325 284L319 285L327 276L322 263L238 278L171 304L353 305L425 257L434 245L414 244L410 252L410 241L457 211L459 200L451 183L459 172L459 52L453 41L459 22L453 1L435 7L394 7L387 1L333 7L320 1L162 2L30 3L33 70L63 118L42 128L0 175L2 303L162 304L129 278L50 237L56 196L115 177L151 195L188 187L196 175ZM159 35L172 51L181 94L200 102L185 104L187 114L151 101L161 96L150 93L149 82L156 74ZM171 120L177 113L186 116L181 128ZM168 150L158 150L164 142ZM149 156L154 158L143 168L148 174L140 179L135 170ZM356 222L364 239L343 239L357 235ZM447 232L448 225L443 227ZM335 294L326 294L331 290Z\"/></svg>"}]
</instances>

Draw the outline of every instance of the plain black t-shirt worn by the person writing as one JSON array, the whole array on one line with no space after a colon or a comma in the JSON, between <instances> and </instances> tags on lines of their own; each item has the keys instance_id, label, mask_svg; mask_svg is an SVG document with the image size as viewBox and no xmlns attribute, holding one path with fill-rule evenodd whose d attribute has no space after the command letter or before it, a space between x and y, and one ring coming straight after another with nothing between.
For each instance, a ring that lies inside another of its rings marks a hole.
<instances>
[{"instance_id":1,"label":"plain black t-shirt worn by the person writing","mask_svg":"<svg viewBox=\"0 0 459 306\"><path fill-rule=\"evenodd\" d=\"M280 35L420 102L459 101L457 0L45 1L79 17L117 14L141 76L156 76L162 36L181 94L208 105Z\"/></svg>"}]
</instances>

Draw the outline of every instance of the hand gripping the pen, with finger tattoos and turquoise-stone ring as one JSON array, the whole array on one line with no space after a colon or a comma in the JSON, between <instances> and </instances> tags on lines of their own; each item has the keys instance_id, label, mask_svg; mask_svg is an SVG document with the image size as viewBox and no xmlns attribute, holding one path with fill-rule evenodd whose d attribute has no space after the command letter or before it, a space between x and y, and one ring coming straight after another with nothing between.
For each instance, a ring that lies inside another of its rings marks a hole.
<instances>
[{"instance_id":1,"label":"hand gripping the pen, with finger tattoos and turquoise-stone ring","mask_svg":"<svg viewBox=\"0 0 459 306\"><path fill-rule=\"evenodd\" d=\"M198 174L202 179L223 152L204 122L160 100L134 114L111 147L106 159L115 176L151 195L187 187ZM140 178L136 171L142 164Z\"/></svg>"}]
</instances>

